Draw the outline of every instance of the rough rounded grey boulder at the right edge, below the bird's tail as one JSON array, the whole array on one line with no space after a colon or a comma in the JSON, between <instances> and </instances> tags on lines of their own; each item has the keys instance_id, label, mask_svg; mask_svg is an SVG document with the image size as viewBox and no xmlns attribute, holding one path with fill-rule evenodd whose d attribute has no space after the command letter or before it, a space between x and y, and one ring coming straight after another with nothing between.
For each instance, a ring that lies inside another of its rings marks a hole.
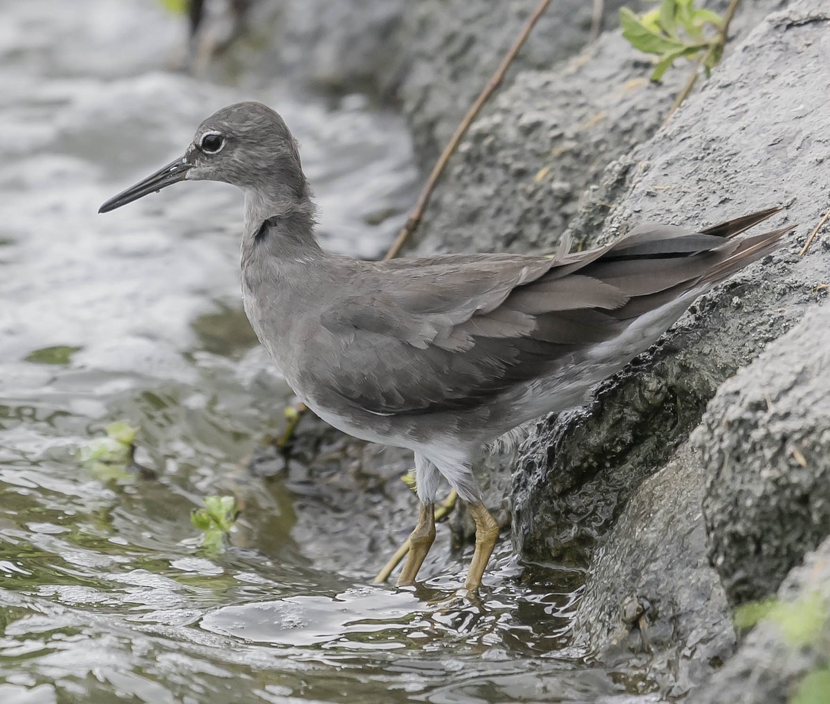
<instances>
[{"instance_id":1,"label":"rough rounded grey boulder at the right edge, below the bird's tail","mask_svg":"<svg viewBox=\"0 0 830 704\"><path fill-rule=\"evenodd\" d=\"M830 308L814 310L709 404L710 558L730 603L778 589L830 534Z\"/></svg>"}]
</instances>

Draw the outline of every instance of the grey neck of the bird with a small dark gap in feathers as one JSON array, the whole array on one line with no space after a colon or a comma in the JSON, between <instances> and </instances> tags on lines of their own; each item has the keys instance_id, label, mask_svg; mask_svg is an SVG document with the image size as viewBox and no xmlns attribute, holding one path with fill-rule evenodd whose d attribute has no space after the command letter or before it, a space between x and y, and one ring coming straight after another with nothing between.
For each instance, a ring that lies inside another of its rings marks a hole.
<instances>
[{"instance_id":1,"label":"grey neck of the bird with a small dark gap in feathers","mask_svg":"<svg viewBox=\"0 0 830 704\"><path fill-rule=\"evenodd\" d=\"M315 236L315 207L307 194L245 193L242 251L305 260L322 254Z\"/></svg>"}]
</instances>

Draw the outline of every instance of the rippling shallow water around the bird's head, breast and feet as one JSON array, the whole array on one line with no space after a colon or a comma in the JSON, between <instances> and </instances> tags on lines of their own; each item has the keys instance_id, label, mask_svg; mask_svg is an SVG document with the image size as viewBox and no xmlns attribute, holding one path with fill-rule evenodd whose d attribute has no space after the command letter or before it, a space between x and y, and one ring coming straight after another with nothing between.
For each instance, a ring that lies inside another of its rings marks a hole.
<instances>
[{"instance_id":1,"label":"rippling shallow water around the bird's head, breast and feet","mask_svg":"<svg viewBox=\"0 0 830 704\"><path fill-rule=\"evenodd\" d=\"M481 604L441 600L468 561L446 530L424 586L370 586L408 530L384 524L383 496L356 545L337 497L359 486L301 462L270 478L237 466L291 398L241 311L239 193L183 184L96 213L213 110L254 98L300 139L325 246L377 257L417 188L401 120L354 96L332 108L170 71L183 26L148 0L0 12L0 702L618 692L569 649L577 596L521 584L506 542ZM154 479L76 459L120 419L140 428ZM189 512L234 482L254 498L212 553Z\"/></svg>"}]
</instances>

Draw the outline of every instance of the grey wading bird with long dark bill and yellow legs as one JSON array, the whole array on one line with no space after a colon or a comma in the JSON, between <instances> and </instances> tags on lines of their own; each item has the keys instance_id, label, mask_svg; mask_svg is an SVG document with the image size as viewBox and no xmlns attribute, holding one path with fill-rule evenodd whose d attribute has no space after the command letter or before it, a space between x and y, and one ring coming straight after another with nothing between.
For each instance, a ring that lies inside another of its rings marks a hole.
<instances>
[{"instance_id":1,"label":"grey wading bird with long dark bill and yellow legs","mask_svg":"<svg viewBox=\"0 0 830 704\"><path fill-rule=\"evenodd\" d=\"M441 477L469 506L478 589L498 536L471 463L481 448L646 350L701 293L769 254L792 227L735 239L769 208L700 231L641 225L554 257L459 254L363 262L324 252L300 154L281 117L230 105L183 157L101 213L183 180L245 193L242 293L256 335L297 396L345 433L415 453L417 527L398 584L435 539Z\"/></svg>"}]
</instances>

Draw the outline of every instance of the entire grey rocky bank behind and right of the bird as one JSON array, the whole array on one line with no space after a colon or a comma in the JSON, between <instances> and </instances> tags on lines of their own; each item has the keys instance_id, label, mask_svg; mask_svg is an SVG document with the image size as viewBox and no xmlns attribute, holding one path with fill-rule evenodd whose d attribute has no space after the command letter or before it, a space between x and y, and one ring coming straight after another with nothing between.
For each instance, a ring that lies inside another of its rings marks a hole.
<instances>
[{"instance_id":1,"label":"entire grey rocky bank behind and right of the bird","mask_svg":"<svg viewBox=\"0 0 830 704\"><path fill-rule=\"evenodd\" d=\"M591 3L549 8L406 253L549 252L564 232L590 246L638 222L705 227L774 204L770 227L800 223L588 407L540 419L488 490L494 506L510 496L520 555L585 570L584 653L660 697L785 702L830 653L795 653L769 623L739 637L732 611L805 590L830 609L828 228L798 254L830 206L830 11L746 0L724 60L662 126L688 65L647 81L613 29L620 4L604 3L608 31L590 45ZM251 71L390 100L427 171L535 2L322 5L263 2L278 30ZM663 701L646 697L630 701Z\"/></svg>"}]
</instances>

